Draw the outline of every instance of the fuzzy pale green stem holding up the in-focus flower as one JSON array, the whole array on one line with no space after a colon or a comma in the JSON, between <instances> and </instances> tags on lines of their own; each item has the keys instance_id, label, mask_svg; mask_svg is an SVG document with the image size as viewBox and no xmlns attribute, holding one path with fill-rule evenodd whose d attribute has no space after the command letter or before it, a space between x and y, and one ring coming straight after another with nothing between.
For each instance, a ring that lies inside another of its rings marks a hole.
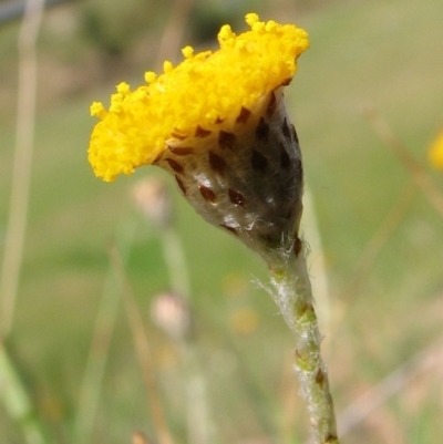
<instances>
[{"instance_id":1,"label":"fuzzy pale green stem holding up the in-focus flower","mask_svg":"<svg viewBox=\"0 0 443 444\"><path fill-rule=\"evenodd\" d=\"M338 444L336 415L329 391L328 372L320 353L306 246L291 251L278 268L271 268L272 293L296 339L296 373L308 407L315 444Z\"/></svg>"}]
</instances>

